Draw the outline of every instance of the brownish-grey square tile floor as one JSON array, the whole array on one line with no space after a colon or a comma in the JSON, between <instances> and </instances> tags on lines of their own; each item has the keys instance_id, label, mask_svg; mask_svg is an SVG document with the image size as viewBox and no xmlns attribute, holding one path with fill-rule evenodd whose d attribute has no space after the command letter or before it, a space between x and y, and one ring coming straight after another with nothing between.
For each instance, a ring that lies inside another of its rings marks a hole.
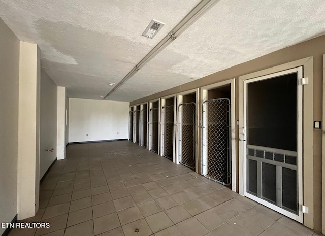
<instances>
[{"instance_id":1,"label":"brownish-grey square tile floor","mask_svg":"<svg viewBox=\"0 0 325 236\"><path fill-rule=\"evenodd\" d=\"M129 141L74 144L40 187L40 210L11 236L320 235Z\"/></svg>"}]
</instances>

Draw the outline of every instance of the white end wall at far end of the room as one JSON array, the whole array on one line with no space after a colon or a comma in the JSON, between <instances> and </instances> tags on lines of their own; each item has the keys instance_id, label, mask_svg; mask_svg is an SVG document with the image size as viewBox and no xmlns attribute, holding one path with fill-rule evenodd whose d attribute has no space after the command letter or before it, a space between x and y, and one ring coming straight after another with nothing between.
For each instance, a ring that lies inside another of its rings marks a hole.
<instances>
[{"instance_id":1,"label":"white end wall at far end of the room","mask_svg":"<svg viewBox=\"0 0 325 236\"><path fill-rule=\"evenodd\" d=\"M69 143L127 139L128 107L128 102L70 98Z\"/></svg>"}]
</instances>

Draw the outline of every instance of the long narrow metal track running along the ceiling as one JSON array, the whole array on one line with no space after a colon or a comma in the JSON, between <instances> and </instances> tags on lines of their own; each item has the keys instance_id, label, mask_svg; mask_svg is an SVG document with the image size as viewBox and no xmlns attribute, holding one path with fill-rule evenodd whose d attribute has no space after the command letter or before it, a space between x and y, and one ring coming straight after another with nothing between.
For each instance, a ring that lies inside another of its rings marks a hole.
<instances>
[{"instance_id":1,"label":"long narrow metal track running along the ceiling","mask_svg":"<svg viewBox=\"0 0 325 236\"><path fill-rule=\"evenodd\" d=\"M121 87L129 78L136 74L143 66L145 66L152 58L154 58L159 52L163 51L169 44L177 39L182 32L184 32L189 26L196 22L202 15L204 15L209 9L211 9L220 0L202 0L196 7L193 8L179 22L175 28L161 40L116 86L104 97L108 97Z\"/></svg>"}]
</instances>

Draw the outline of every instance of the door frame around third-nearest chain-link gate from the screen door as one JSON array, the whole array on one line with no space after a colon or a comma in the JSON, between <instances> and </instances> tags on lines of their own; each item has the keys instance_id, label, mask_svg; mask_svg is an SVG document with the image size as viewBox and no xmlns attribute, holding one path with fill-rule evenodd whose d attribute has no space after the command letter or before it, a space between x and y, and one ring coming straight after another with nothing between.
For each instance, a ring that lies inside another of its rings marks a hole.
<instances>
[{"instance_id":1,"label":"door frame around third-nearest chain-link gate from the screen door","mask_svg":"<svg viewBox=\"0 0 325 236\"><path fill-rule=\"evenodd\" d=\"M173 125L173 133L174 133L174 139L173 139L173 162L175 163L175 157L176 157L176 104L177 104L177 101L176 101L176 93L175 94L171 94L169 96L164 96L164 97L161 97L160 98L160 114L159 114L159 119L160 119L160 146L159 146L159 149L160 149L160 156L163 156L163 107L165 106L166 104L166 100L169 99L169 98L174 98L174 117L173 117L173 120L174 120L174 125Z\"/></svg>"}]
</instances>

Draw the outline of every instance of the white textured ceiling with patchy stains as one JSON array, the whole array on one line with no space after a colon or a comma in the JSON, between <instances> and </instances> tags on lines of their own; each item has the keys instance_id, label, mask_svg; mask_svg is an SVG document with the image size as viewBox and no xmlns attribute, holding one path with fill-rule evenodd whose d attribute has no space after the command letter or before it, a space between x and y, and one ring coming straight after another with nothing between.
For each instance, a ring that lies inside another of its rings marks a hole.
<instances>
[{"instance_id":1,"label":"white textured ceiling with patchy stains","mask_svg":"<svg viewBox=\"0 0 325 236\"><path fill-rule=\"evenodd\" d=\"M42 50L69 97L101 99L199 0L0 0L0 18ZM152 19L166 23L141 36ZM325 33L323 0L221 0L109 100L132 101Z\"/></svg>"}]
</instances>

